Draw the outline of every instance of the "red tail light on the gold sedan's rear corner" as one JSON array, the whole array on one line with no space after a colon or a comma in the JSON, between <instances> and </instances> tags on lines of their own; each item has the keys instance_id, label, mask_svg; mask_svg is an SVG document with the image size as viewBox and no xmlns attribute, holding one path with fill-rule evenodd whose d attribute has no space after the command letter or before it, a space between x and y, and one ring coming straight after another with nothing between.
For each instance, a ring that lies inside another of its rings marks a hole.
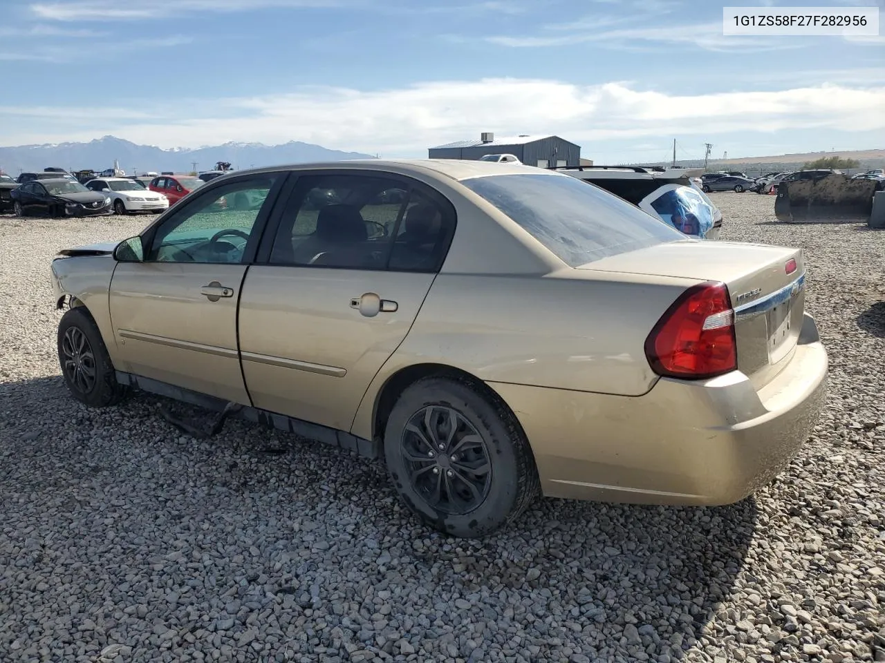
<instances>
[{"instance_id":1,"label":"red tail light on the gold sedan's rear corner","mask_svg":"<svg viewBox=\"0 0 885 663\"><path fill-rule=\"evenodd\" d=\"M645 356L659 376L698 380L737 368L735 311L724 283L682 293L645 339Z\"/></svg>"}]
</instances>

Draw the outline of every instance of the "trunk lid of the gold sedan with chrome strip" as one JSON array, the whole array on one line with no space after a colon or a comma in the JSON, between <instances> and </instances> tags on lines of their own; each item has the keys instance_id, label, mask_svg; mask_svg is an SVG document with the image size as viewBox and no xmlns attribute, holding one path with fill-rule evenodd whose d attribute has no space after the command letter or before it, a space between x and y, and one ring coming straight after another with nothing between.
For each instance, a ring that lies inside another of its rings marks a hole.
<instances>
[{"instance_id":1,"label":"trunk lid of the gold sedan with chrome strip","mask_svg":"<svg viewBox=\"0 0 885 663\"><path fill-rule=\"evenodd\" d=\"M721 281L735 309L738 369L757 387L784 368L802 328L800 249L687 240L612 255L579 269Z\"/></svg>"}]
</instances>

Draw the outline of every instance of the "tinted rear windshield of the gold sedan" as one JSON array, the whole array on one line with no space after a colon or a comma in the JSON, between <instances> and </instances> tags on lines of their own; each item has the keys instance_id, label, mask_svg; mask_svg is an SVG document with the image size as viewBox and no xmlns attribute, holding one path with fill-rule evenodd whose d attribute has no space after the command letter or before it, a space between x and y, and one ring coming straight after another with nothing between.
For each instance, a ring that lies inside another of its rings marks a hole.
<instances>
[{"instance_id":1,"label":"tinted rear windshield of the gold sedan","mask_svg":"<svg viewBox=\"0 0 885 663\"><path fill-rule=\"evenodd\" d=\"M566 175L462 180L571 267L686 237L603 189Z\"/></svg>"}]
</instances>

